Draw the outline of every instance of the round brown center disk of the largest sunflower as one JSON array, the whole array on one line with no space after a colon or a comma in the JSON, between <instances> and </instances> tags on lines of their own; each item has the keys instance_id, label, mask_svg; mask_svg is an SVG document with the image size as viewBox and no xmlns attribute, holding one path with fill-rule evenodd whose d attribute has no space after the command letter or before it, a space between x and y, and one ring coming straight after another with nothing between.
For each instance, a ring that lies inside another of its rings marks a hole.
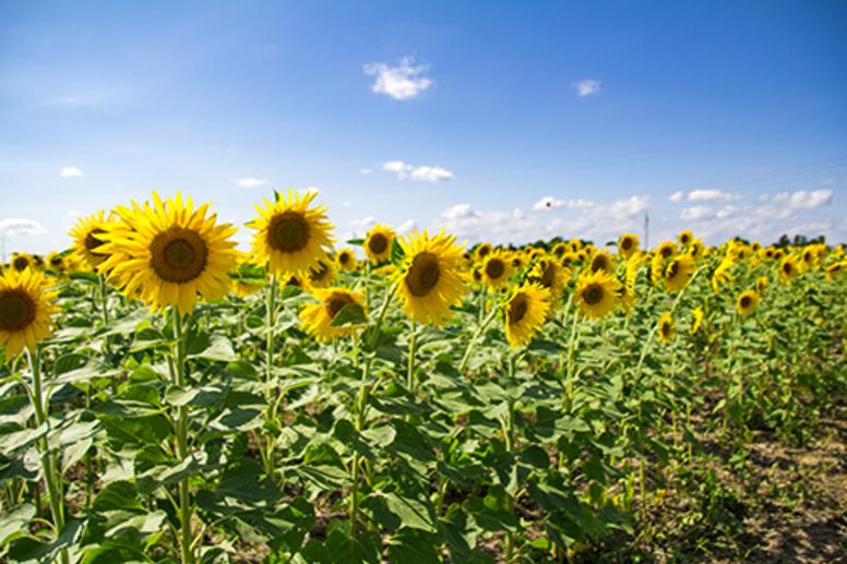
<instances>
[{"instance_id":1,"label":"round brown center disk of the largest sunflower","mask_svg":"<svg viewBox=\"0 0 847 564\"><path fill-rule=\"evenodd\" d=\"M165 281L184 284L198 278L206 268L208 249L196 232L174 227L153 239L151 266Z\"/></svg>"}]
</instances>

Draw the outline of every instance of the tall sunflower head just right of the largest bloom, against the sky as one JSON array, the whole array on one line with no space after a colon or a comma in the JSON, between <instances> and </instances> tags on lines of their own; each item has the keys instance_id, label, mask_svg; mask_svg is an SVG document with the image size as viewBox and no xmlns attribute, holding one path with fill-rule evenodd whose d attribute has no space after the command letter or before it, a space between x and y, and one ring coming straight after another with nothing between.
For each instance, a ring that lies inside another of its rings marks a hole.
<instances>
[{"instance_id":1,"label":"tall sunflower head just right of the largest bloom, against the sky","mask_svg":"<svg viewBox=\"0 0 847 564\"><path fill-rule=\"evenodd\" d=\"M326 207L309 207L317 192L300 194L289 190L276 201L264 200L255 206L259 217L248 223L257 230L253 255L273 274L297 274L314 266L332 247L333 226L326 218Z\"/></svg>"}]
</instances>

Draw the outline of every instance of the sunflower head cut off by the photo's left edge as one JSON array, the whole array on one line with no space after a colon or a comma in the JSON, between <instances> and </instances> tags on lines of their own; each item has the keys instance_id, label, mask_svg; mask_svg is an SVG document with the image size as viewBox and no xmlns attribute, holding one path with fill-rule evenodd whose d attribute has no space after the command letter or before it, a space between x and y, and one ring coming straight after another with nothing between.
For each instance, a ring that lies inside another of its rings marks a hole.
<instances>
[{"instance_id":1,"label":"sunflower head cut off by the photo's left edge","mask_svg":"<svg viewBox=\"0 0 847 564\"><path fill-rule=\"evenodd\" d=\"M5 346L9 361L24 347L35 345L52 334L50 316L57 311L57 292L48 290L50 283L32 268L9 269L0 276L0 344Z\"/></svg>"}]
</instances>

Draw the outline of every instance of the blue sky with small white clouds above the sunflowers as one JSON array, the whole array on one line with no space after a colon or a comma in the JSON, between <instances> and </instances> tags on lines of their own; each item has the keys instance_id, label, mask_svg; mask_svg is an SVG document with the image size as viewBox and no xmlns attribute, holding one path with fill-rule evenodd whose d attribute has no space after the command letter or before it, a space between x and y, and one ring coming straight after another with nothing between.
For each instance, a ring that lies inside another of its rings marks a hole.
<instances>
[{"instance_id":1,"label":"blue sky with small white clouds above the sunflowers","mask_svg":"<svg viewBox=\"0 0 847 564\"><path fill-rule=\"evenodd\" d=\"M847 3L0 0L0 232L317 188L463 240L847 240ZM243 228L239 237L247 240Z\"/></svg>"}]
</instances>

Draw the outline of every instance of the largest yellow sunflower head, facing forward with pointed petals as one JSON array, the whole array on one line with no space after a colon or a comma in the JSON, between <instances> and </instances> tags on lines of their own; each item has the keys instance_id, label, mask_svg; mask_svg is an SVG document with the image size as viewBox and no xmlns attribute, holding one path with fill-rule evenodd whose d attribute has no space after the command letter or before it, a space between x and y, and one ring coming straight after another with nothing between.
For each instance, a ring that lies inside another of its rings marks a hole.
<instances>
[{"instance_id":1,"label":"largest yellow sunflower head, facing forward with pointed petals","mask_svg":"<svg viewBox=\"0 0 847 564\"><path fill-rule=\"evenodd\" d=\"M130 214L121 217L128 228L100 236L106 244L98 250L122 260L115 265L106 260L98 269L112 268L110 277L126 295L138 295L153 309L176 305L182 315L194 308L198 295L226 296L239 254L230 239L234 226L215 225L215 214L206 217L208 204L195 208L179 193L163 201L154 192L152 205L133 207L118 208Z\"/></svg>"}]
</instances>

